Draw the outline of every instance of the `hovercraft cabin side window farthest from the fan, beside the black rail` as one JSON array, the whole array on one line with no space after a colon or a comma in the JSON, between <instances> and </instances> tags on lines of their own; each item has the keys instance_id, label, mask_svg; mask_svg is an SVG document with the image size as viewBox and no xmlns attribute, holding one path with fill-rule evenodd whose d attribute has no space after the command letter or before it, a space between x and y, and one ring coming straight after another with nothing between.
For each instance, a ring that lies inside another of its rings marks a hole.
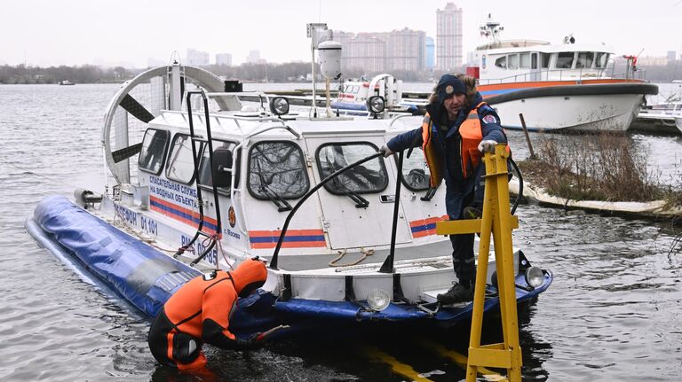
<instances>
[{"instance_id":1,"label":"hovercraft cabin side window farthest from the fan, beside the black rail","mask_svg":"<svg viewBox=\"0 0 682 382\"><path fill-rule=\"evenodd\" d=\"M213 183L219 194L229 195L232 187L232 163L234 157L234 142L227 142L218 139L213 139L213 167L211 171L209 160L209 146L203 147L202 162L199 165L199 186L203 189L213 190ZM239 184L239 162L240 155L237 153L237 160L235 165L234 183Z\"/></svg>"}]
</instances>

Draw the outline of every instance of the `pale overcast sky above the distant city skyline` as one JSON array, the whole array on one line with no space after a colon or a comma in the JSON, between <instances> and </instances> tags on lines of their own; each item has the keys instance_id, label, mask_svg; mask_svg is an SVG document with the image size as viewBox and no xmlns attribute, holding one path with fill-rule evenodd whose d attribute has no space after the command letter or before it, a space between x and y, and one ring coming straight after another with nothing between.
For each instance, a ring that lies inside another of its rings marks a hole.
<instances>
[{"instance_id":1,"label":"pale overcast sky above the distant city skyline","mask_svg":"<svg viewBox=\"0 0 682 382\"><path fill-rule=\"evenodd\" d=\"M146 67L187 48L231 53L250 50L269 62L310 59L305 24L326 22L345 32L408 27L435 38L436 10L446 0L9 0L0 12L0 64ZM682 0L460 0L464 58L482 43L488 12L503 38L607 43L617 54L664 56L682 50Z\"/></svg>"}]
</instances>

